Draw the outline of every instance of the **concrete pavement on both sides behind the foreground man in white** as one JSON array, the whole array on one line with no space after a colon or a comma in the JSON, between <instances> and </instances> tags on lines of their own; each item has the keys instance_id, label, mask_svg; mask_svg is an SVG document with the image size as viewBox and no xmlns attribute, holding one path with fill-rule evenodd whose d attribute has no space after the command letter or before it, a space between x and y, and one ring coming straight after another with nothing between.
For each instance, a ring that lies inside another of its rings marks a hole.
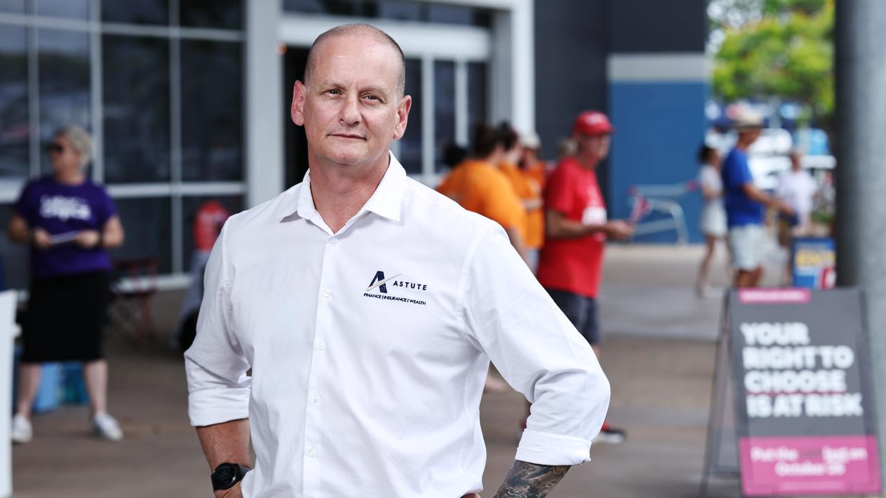
<instances>
[{"instance_id":1,"label":"concrete pavement on both sides behind the foreground man in white","mask_svg":"<svg viewBox=\"0 0 886 498\"><path fill-rule=\"evenodd\" d=\"M613 386L610 420L626 444L598 445L593 462L572 469L552 497L697 496L711 394L719 299L693 292L698 247L613 246L601 300L602 364ZM722 263L720 263L722 264ZM725 285L724 272L712 271ZM155 302L168 331L180 292ZM15 496L116 498L212 496L209 469L188 425L181 356L156 344L110 341L110 405L126 439L93 440L86 409L35 418L35 440L13 449ZM484 496L492 496L517 446L524 403L517 393L487 394L481 420L488 449ZM738 496L737 483L712 488Z\"/></svg>"}]
</instances>

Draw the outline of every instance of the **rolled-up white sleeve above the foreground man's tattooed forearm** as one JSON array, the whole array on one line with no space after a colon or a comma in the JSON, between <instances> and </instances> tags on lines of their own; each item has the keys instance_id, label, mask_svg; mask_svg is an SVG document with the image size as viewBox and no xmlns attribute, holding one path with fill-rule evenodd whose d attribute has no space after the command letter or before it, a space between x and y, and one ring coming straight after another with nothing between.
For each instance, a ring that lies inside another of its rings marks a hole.
<instances>
[{"instance_id":1,"label":"rolled-up white sleeve above the foreground man's tattooed forearm","mask_svg":"<svg viewBox=\"0 0 886 498\"><path fill-rule=\"evenodd\" d=\"M576 465L609 409L610 385L591 346L498 227L478 235L462 274L471 338L532 402L517 460Z\"/></svg>"}]
</instances>

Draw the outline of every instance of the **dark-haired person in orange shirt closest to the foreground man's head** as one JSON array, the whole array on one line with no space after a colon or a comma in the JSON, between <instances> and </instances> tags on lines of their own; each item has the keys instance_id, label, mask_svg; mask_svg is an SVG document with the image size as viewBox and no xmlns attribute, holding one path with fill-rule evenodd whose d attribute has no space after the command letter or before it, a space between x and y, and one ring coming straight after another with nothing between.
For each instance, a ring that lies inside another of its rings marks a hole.
<instances>
[{"instance_id":1,"label":"dark-haired person in orange shirt closest to the foreground man's head","mask_svg":"<svg viewBox=\"0 0 886 498\"><path fill-rule=\"evenodd\" d=\"M526 212L508 177L496 167L503 150L499 134L480 125L474 134L470 157L463 160L439 184L437 191L455 200L468 211L498 222L508 233L511 245L527 261L525 245Z\"/></svg>"}]
</instances>

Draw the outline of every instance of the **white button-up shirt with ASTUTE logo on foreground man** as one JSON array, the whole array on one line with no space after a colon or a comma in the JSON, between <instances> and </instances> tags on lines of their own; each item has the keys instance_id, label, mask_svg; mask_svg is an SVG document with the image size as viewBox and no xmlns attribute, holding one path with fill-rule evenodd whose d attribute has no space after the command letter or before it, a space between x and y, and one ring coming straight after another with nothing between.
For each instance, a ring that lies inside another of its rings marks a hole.
<instances>
[{"instance_id":1,"label":"white button-up shirt with ASTUTE logo on foreground man","mask_svg":"<svg viewBox=\"0 0 886 498\"><path fill-rule=\"evenodd\" d=\"M247 498L482 490L490 359L533 403L517 460L589 460L610 396L591 347L497 224L393 156L338 233L309 174L232 216L205 289L185 354L190 422L248 416Z\"/></svg>"}]
</instances>

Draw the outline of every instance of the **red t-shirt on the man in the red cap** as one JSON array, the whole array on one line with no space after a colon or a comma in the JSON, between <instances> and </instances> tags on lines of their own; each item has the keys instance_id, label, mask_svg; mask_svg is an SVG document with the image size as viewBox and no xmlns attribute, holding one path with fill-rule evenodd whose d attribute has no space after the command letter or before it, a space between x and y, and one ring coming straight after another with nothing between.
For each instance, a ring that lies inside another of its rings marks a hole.
<instances>
[{"instance_id":1,"label":"red t-shirt on the man in the red cap","mask_svg":"<svg viewBox=\"0 0 886 498\"><path fill-rule=\"evenodd\" d=\"M572 158L560 161L545 186L545 210L548 209L586 225L606 222L606 204L596 173ZM539 282L548 289L595 298L600 290L605 243L602 232L578 238L546 237L539 261Z\"/></svg>"}]
</instances>

